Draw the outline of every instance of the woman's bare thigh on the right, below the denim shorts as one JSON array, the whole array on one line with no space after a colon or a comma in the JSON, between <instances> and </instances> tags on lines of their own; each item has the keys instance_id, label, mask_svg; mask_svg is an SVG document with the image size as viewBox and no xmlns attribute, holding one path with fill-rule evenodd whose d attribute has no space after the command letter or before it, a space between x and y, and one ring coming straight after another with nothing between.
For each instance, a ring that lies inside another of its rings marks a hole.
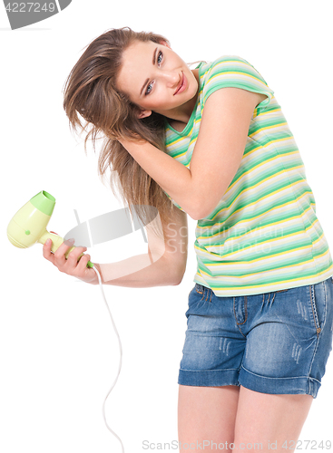
<instances>
[{"instance_id":1,"label":"woman's bare thigh on the right, below the denim shorts","mask_svg":"<svg viewBox=\"0 0 333 453\"><path fill-rule=\"evenodd\" d=\"M270 395L240 386L235 425L235 449L260 449L274 453L297 447L300 431L308 417L311 395ZM271 444L275 442L275 445ZM246 448L247 443L251 444ZM254 447L255 443L262 444ZM269 448L270 446L270 448ZM283 448L284 446L284 448Z\"/></svg>"}]
</instances>

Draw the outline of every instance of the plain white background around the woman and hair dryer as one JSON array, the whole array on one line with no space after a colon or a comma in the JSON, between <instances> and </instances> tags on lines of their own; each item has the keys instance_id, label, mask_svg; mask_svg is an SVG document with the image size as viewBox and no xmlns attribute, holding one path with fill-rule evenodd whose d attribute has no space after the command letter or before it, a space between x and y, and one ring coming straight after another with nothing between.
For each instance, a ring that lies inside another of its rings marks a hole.
<instances>
[{"instance_id":1,"label":"plain white background around the woman and hair dryer","mask_svg":"<svg viewBox=\"0 0 333 453\"><path fill-rule=\"evenodd\" d=\"M164 34L189 63L238 54L253 64L289 121L333 250L330 6L296 0L73 0L61 14L11 31L0 5L0 451L121 451L102 417L119 349L99 287L61 274L44 260L41 245L18 249L6 237L11 217L41 190L56 198L49 229L60 235L76 225L73 209L84 221L122 207L98 177L97 155L90 149L85 157L83 137L71 134L62 107L64 81L83 48L107 29L128 25ZM143 440L177 439L184 313L196 270L190 217L189 226L181 285L104 286L123 348L106 417L125 451L143 451ZM134 255L146 252L140 232L89 253L99 262L106 250L111 262L132 249ZM300 439L332 440L332 378L330 356Z\"/></svg>"}]
</instances>

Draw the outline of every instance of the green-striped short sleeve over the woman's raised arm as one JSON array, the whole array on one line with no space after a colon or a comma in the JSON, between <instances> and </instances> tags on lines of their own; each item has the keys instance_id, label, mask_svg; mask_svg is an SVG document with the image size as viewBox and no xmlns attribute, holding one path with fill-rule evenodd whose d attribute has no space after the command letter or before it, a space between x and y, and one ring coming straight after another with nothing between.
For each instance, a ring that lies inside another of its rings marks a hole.
<instances>
[{"instance_id":1,"label":"green-striped short sleeve over the woman's raised arm","mask_svg":"<svg viewBox=\"0 0 333 453\"><path fill-rule=\"evenodd\" d=\"M205 84L202 90L203 105L211 93L220 88L234 87L266 94L267 98L260 102L257 108L266 108L274 96L258 72L249 62L236 55L224 55L215 62L205 74Z\"/></svg>"}]
</instances>

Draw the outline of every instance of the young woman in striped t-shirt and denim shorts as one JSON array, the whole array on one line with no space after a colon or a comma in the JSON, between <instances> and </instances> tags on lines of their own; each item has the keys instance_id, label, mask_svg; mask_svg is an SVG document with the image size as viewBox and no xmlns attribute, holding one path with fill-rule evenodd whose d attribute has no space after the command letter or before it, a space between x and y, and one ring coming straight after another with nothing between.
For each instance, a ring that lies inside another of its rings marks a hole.
<instances>
[{"instance_id":1,"label":"young woman in striped t-shirt and denim shorts","mask_svg":"<svg viewBox=\"0 0 333 453\"><path fill-rule=\"evenodd\" d=\"M86 140L103 133L100 169L117 171L123 199L162 221L162 234L147 226L147 255L97 265L104 284L180 284L187 214L198 221L181 444L296 448L332 349L333 264L274 92L239 56L190 70L161 35L123 28L87 47L64 109L74 129L91 127ZM66 260L69 246L45 245L44 257L97 284L90 255Z\"/></svg>"}]
</instances>

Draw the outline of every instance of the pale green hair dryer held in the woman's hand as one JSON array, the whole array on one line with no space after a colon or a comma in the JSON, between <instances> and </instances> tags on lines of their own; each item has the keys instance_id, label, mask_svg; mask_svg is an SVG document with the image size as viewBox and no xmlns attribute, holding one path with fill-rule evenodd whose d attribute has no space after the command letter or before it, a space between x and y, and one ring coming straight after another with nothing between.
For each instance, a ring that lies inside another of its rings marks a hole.
<instances>
[{"instance_id":1,"label":"pale green hair dryer held in the woman's hand","mask_svg":"<svg viewBox=\"0 0 333 453\"><path fill-rule=\"evenodd\" d=\"M55 198L44 190L25 203L7 226L7 236L13 246L26 248L34 246L37 242L44 244L46 239L50 238L52 239L51 250L55 252L63 244L64 238L49 233L46 229L54 212L54 205ZM75 247L68 250L65 254L66 257L73 248ZM87 266L93 267L93 263L88 261Z\"/></svg>"}]
</instances>

